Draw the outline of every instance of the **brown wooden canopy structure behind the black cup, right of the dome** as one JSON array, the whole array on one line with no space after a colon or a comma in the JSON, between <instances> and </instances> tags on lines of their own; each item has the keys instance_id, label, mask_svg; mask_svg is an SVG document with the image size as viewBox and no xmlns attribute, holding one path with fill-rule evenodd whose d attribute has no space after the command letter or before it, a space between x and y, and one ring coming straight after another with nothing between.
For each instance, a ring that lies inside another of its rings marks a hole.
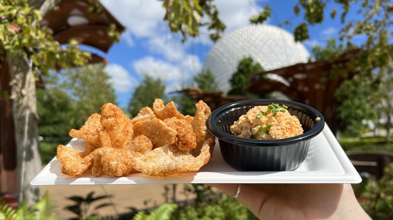
<instances>
[{"instance_id":1,"label":"brown wooden canopy structure behind the black cup, right of the dome","mask_svg":"<svg viewBox=\"0 0 393 220\"><path fill-rule=\"evenodd\" d=\"M341 70L347 69L348 62L356 58L359 52L359 49L351 50L333 62L319 60L256 72L251 76L247 90L260 97L265 97L273 91L280 91L293 101L308 104L323 115L326 124L336 134L337 103L334 93L345 79L352 78L356 73L348 72L346 76L341 74L332 76L331 71L335 67ZM276 77L271 77L272 75Z\"/></svg>"}]
</instances>

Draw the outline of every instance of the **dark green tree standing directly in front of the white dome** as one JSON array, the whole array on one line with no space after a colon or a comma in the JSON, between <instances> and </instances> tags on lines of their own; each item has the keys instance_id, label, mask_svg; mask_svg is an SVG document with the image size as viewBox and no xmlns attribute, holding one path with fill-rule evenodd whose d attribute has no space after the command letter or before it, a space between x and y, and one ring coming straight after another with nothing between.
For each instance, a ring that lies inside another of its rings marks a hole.
<instances>
[{"instance_id":1,"label":"dark green tree standing directly in front of the white dome","mask_svg":"<svg viewBox=\"0 0 393 220\"><path fill-rule=\"evenodd\" d=\"M231 79L231 89L228 94L231 95L246 95L244 89L248 86L248 80L255 71L263 71L264 68L251 57L245 57L239 61L236 72L233 73Z\"/></svg>"}]
</instances>

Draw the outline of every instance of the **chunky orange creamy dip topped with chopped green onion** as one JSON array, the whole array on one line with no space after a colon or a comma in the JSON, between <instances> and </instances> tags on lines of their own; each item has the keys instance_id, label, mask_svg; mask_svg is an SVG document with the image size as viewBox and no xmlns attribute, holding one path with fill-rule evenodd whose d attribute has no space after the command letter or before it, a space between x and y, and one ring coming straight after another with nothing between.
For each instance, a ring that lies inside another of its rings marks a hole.
<instances>
[{"instance_id":1,"label":"chunky orange creamy dip topped with chopped green onion","mask_svg":"<svg viewBox=\"0 0 393 220\"><path fill-rule=\"evenodd\" d=\"M230 127L232 134L241 138L259 140L283 139L303 134L296 116L291 116L287 106L272 103L255 106Z\"/></svg>"}]
</instances>

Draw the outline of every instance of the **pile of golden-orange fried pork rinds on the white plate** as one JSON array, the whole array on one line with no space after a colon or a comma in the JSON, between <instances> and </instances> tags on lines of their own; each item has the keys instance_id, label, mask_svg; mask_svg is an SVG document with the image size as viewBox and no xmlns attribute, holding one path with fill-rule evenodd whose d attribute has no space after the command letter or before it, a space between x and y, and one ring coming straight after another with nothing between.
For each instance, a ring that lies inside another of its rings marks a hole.
<instances>
[{"instance_id":1,"label":"pile of golden-orange fried pork rinds on the white plate","mask_svg":"<svg viewBox=\"0 0 393 220\"><path fill-rule=\"evenodd\" d=\"M59 145L57 159L61 172L80 176L126 176L142 172L150 176L168 176L195 172L213 156L215 138L206 128L209 106L199 101L195 116L184 116L173 103L156 99L153 109L144 107L129 119L119 107L106 103L101 115L93 114L80 130L69 135L85 139L86 150Z\"/></svg>"}]
</instances>

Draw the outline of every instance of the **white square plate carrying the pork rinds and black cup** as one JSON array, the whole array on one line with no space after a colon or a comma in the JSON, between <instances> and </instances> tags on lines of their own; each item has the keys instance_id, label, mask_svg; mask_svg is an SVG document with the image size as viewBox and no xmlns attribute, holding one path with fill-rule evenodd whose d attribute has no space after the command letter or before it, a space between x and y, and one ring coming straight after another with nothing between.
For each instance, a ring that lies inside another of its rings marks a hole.
<instances>
[{"instance_id":1,"label":"white square plate carrying the pork rinds and black cup","mask_svg":"<svg viewBox=\"0 0 393 220\"><path fill-rule=\"evenodd\" d=\"M86 141L73 139L68 146L84 151ZM32 185L73 184L169 184L169 183L359 183L361 177L327 125L313 138L304 162L293 171L240 172L222 158L217 144L213 158L199 172L178 173L167 177L151 177L133 173L125 177L94 177L88 171L81 177L67 176L60 171L55 158L31 181Z\"/></svg>"}]
</instances>

